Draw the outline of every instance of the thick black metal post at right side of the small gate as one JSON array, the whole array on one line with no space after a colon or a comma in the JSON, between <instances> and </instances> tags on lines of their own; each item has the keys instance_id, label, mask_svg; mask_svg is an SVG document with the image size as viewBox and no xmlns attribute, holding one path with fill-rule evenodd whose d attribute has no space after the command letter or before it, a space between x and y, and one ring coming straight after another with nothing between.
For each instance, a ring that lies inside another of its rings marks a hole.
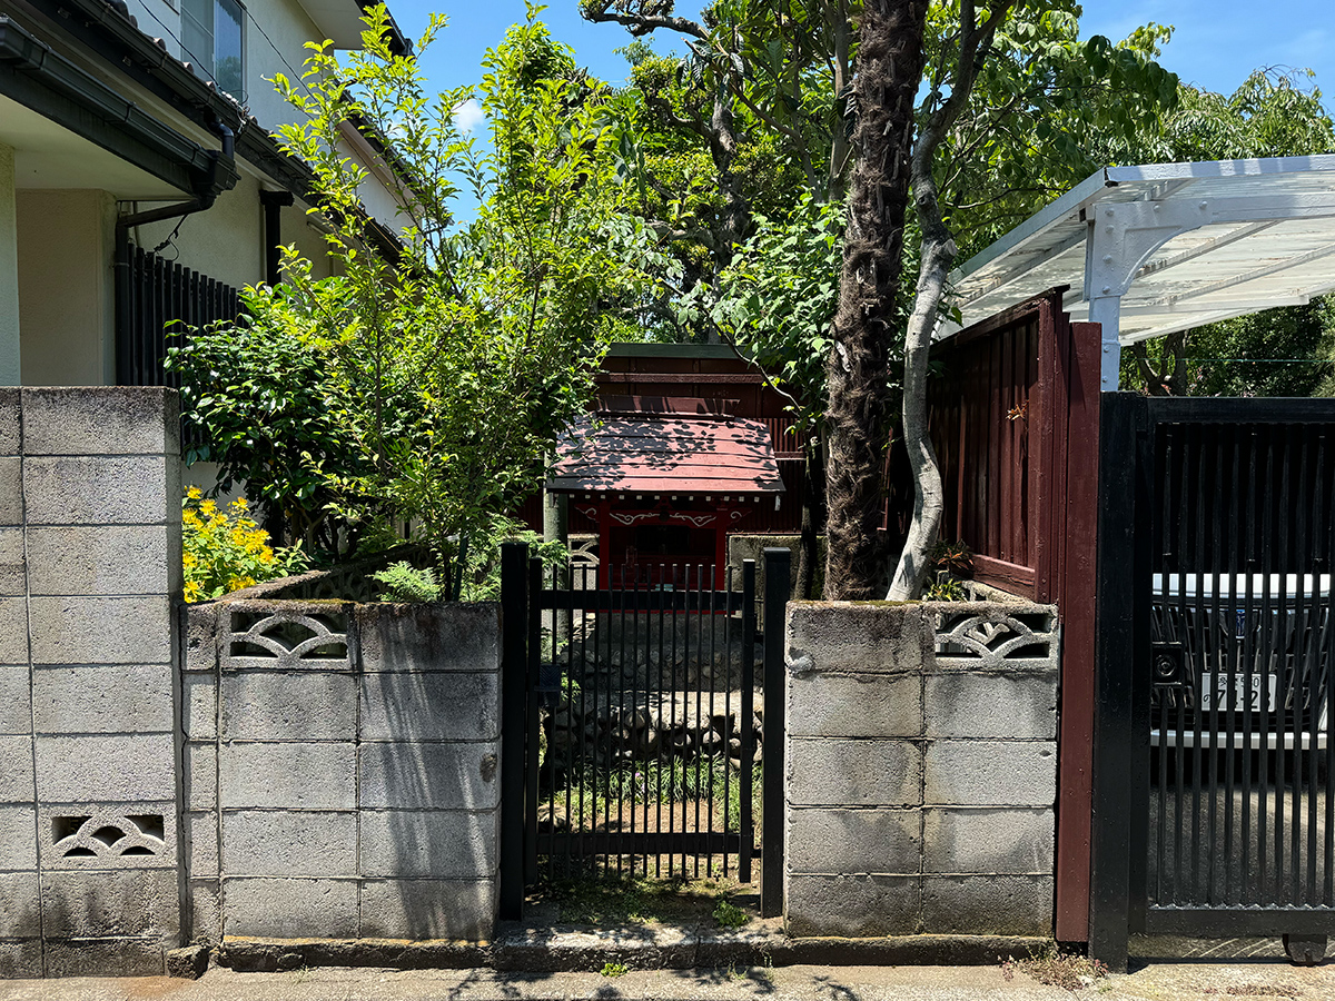
<instances>
[{"instance_id":1,"label":"thick black metal post at right side of the small gate","mask_svg":"<svg viewBox=\"0 0 1335 1001\"><path fill-rule=\"evenodd\" d=\"M784 913L784 631L792 589L793 554L765 550L765 747L761 819L760 914Z\"/></svg>"}]
</instances>

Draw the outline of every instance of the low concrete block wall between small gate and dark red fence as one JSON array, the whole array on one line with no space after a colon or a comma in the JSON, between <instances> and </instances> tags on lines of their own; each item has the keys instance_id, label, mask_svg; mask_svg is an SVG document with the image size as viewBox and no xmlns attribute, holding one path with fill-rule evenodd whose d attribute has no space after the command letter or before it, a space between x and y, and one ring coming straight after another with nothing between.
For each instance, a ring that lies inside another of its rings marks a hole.
<instances>
[{"instance_id":1,"label":"low concrete block wall between small gate and dark red fence","mask_svg":"<svg viewBox=\"0 0 1335 1001\"><path fill-rule=\"evenodd\" d=\"M1052 934L1056 615L788 610L785 925Z\"/></svg>"}]
</instances>

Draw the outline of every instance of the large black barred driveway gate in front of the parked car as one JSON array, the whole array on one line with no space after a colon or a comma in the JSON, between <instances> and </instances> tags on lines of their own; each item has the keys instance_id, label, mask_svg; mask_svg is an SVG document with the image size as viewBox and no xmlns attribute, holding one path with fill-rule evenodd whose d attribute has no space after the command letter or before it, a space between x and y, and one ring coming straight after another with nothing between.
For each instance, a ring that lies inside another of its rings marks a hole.
<instances>
[{"instance_id":1,"label":"large black barred driveway gate in front of the parked car","mask_svg":"<svg viewBox=\"0 0 1335 1001\"><path fill-rule=\"evenodd\" d=\"M1091 945L1335 932L1335 402L1104 398Z\"/></svg>"}]
</instances>

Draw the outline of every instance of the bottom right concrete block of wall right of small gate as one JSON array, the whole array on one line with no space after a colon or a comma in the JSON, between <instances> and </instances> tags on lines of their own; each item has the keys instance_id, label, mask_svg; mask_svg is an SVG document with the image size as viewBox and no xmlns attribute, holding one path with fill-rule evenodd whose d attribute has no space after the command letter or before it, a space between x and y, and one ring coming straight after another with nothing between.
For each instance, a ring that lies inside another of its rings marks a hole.
<instances>
[{"instance_id":1,"label":"bottom right concrete block of wall right of small gate","mask_svg":"<svg viewBox=\"0 0 1335 1001\"><path fill-rule=\"evenodd\" d=\"M1052 934L1051 876L925 876L922 930L929 934Z\"/></svg>"}]
</instances>

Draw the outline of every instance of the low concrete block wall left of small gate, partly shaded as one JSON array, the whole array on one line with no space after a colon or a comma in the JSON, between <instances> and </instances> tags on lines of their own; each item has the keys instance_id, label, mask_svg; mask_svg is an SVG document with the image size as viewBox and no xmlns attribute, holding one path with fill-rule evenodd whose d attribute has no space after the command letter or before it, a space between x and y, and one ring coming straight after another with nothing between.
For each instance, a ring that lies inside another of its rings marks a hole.
<instances>
[{"instance_id":1,"label":"low concrete block wall left of small gate, partly shaded","mask_svg":"<svg viewBox=\"0 0 1335 1001\"><path fill-rule=\"evenodd\" d=\"M183 647L192 937L491 937L498 606L222 601Z\"/></svg>"}]
</instances>

